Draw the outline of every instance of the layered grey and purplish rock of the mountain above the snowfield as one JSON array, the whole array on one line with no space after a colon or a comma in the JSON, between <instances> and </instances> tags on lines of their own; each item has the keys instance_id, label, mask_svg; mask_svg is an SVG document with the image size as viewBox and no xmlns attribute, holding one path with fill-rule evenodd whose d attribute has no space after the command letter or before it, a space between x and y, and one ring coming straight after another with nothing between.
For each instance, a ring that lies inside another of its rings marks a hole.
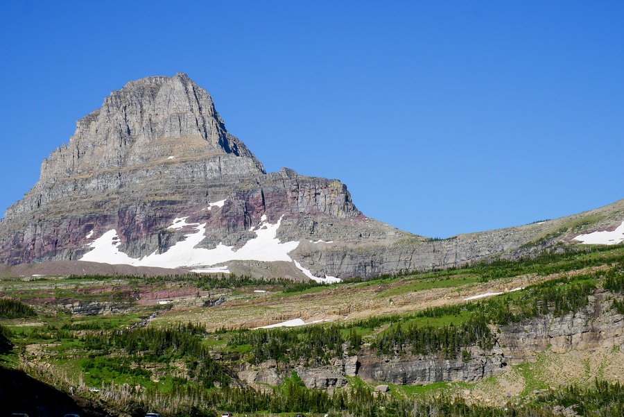
<instances>
[{"instance_id":1,"label":"layered grey and purplish rock of the mountain above the snowfield","mask_svg":"<svg viewBox=\"0 0 624 417\"><path fill-rule=\"evenodd\" d=\"M206 223L200 246L240 247L263 215L284 219L282 241L357 244L392 230L374 222L349 231L347 221L363 216L340 181L267 174L205 90L184 74L148 77L112 92L44 160L39 182L1 223L0 262L80 259L111 229L130 257L164 253L188 232L168 228L181 216Z\"/></svg>"}]
</instances>

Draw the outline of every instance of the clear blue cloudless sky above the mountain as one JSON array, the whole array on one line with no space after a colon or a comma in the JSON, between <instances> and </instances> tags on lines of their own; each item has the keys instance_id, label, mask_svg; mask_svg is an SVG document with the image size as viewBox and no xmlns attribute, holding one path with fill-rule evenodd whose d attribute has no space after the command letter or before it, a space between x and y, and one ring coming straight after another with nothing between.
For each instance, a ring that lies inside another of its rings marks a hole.
<instances>
[{"instance_id":1,"label":"clear blue cloudless sky above the mountain","mask_svg":"<svg viewBox=\"0 0 624 417\"><path fill-rule=\"evenodd\" d=\"M621 0L0 0L0 47L2 213L112 90L177 72L267 171L418 235L624 198Z\"/></svg>"}]
</instances>

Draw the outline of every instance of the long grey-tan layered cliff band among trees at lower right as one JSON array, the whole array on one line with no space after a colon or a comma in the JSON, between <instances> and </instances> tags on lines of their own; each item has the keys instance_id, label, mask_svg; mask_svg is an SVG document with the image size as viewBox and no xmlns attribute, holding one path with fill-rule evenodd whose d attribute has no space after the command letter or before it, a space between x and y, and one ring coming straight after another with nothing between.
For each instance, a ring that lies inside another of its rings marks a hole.
<instances>
[{"instance_id":1,"label":"long grey-tan layered cliff band among trees at lower right","mask_svg":"<svg viewBox=\"0 0 624 417\"><path fill-rule=\"evenodd\" d=\"M494 347L484 350L465 346L458 357L444 355L377 355L363 349L358 355L334 358L330 365L304 366L268 361L253 371L239 373L241 379L278 385L294 370L308 388L333 389L347 377L357 376L370 384L431 384L433 382L478 382L501 375L508 366L535 361L546 350L593 352L624 350L624 316L611 308L612 294L597 291L587 307L575 314L538 318L501 327L492 326Z\"/></svg>"}]
</instances>

